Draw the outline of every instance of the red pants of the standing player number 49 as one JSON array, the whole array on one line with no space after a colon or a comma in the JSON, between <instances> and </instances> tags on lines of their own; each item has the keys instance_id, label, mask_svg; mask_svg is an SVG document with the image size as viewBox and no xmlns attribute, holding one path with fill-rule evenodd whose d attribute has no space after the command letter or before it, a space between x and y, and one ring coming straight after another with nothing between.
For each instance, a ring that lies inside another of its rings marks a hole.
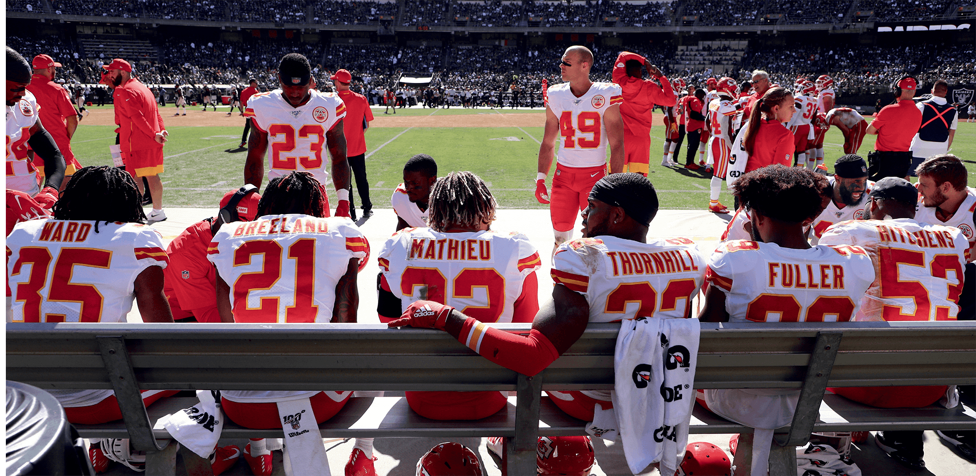
<instances>
[{"instance_id":1,"label":"red pants of the standing player number 49","mask_svg":"<svg viewBox=\"0 0 976 476\"><path fill-rule=\"evenodd\" d=\"M552 228L558 231L573 229L576 217L587 208L593 184L606 175L606 165L577 168L557 163L549 195Z\"/></svg>"}]
</instances>

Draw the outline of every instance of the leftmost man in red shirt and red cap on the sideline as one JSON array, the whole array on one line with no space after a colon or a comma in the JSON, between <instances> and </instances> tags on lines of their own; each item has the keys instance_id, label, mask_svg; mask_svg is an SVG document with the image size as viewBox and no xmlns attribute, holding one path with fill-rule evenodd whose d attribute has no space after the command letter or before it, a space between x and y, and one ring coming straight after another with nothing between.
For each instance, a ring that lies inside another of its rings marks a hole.
<instances>
[{"instance_id":1,"label":"leftmost man in red shirt and red cap on the sideline","mask_svg":"<svg viewBox=\"0 0 976 476\"><path fill-rule=\"evenodd\" d=\"M38 55L34 57L31 66L34 68L34 74L30 77L27 91L33 93L37 104L41 106L40 115L44 129L55 139L61 155L64 156L64 180L61 181L61 190L63 190L71 175L81 169L81 164L71 152L71 137L78 129L78 114L71 102L71 95L55 82L55 69L61 67L61 63L47 55ZM43 159L40 157L34 159L34 167L43 166Z\"/></svg>"}]
</instances>

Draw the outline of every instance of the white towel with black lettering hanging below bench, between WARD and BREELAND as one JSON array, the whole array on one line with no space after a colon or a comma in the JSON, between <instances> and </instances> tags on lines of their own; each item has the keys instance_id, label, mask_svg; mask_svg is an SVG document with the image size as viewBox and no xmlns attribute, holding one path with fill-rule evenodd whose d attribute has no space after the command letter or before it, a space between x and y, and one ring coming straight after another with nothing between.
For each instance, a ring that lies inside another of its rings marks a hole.
<instances>
[{"instance_id":1,"label":"white towel with black lettering hanging below bench, between WARD and BREELAND","mask_svg":"<svg viewBox=\"0 0 976 476\"><path fill-rule=\"evenodd\" d=\"M197 390L200 401L173 415L156 421L154 429L166 428L173 439L200 457L210 457L224 431L224 411L219 390Z\"/></svg>"}]
</instances>

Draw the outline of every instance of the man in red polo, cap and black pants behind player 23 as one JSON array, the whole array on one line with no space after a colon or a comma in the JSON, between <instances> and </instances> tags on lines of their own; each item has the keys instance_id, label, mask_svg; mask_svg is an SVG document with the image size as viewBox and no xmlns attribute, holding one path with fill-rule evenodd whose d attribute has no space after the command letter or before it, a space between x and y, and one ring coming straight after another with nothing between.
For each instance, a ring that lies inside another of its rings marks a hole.
<instances>
[{"instance_id":1,"label":"man in red polo, cap and black pants behind player 23","mask_svg":"<svg viewBox=\"0 0 976 476\"><path fill-rule=\"evenodd\" d=\"M339 98L346 103L346 156L352 175L356 179L356 190L359 191L359 201L362 204L363 218L373 216L373 202L369 199L369 180L366 179L366 138L364 134L369 129L369 122L373 120L373 111L369 108L369 101L359 93L349 90L352 75L345 69L336 71L329 79L335 81ZM352 186L349 185L349 217L356 220L356 207L352 203Z\"/></svg>"}]
</instances>

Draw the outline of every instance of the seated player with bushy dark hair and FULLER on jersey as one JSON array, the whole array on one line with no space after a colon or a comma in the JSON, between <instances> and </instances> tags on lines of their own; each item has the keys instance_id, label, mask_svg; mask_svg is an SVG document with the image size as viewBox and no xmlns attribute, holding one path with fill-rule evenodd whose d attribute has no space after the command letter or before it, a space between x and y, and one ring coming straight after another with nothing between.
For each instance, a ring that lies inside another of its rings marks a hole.
<instances>
[{"instance_id":1,"label":"seated player with bushy dark hair and FULLER on jersey","mask_svg":"<svg viewBox=\"0 0 976 476\"><path fill-rule=\"evenodd\" d=\"M752 217L752 241L726 241L712 254L700 320L851 320L874 281L874 266L863 248L811 247L807 242L803 224L820 214L826 182L813 171L780 164L736 180L733 191ZM756 428L753 445L764 452L773 430L793 419L798 398L799 390L793 389L715 389L698 394L712 413ZM766 473L768 456L752 456L752 474Z\"/></svg>"}]
</instances>

